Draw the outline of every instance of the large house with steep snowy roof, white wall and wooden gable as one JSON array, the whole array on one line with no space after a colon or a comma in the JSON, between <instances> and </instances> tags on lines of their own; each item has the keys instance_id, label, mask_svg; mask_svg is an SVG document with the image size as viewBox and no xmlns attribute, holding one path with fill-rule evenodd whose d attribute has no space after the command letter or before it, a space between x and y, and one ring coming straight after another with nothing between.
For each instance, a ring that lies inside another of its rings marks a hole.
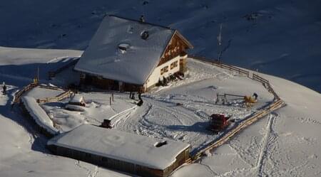
<instances>
[{"instance_id":1,"label":"large house with steep snowy roof, white wall and wooden gable","mask_svg":"<svg viewBox=\"0 0 321 177\"><path fill-rule=\"evenodd\" d=\"M106 16L74 70L80 82L107 90L146 92L159 80L186 70L193 48L177 30Z\"/></svg>"}]
</instances>

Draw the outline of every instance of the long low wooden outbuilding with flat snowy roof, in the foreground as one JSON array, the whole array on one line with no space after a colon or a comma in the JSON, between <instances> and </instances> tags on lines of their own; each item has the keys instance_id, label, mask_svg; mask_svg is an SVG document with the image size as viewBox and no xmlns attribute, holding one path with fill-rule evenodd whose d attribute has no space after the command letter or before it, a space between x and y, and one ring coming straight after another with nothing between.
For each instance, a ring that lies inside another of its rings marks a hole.
<instances>
[{"instance_id":1,"label":"long low wooden outbuilding with flat snowy roof, in the foreground","mask_svg":"<svg viewBox=\"0 0 321 177\"><path fill-rule=\"evenodd\" d=\"M169 176L189 159L190 145L83 124L55 136L48 148L61 156L146 177Z\"/></svg>"}]
</instances>

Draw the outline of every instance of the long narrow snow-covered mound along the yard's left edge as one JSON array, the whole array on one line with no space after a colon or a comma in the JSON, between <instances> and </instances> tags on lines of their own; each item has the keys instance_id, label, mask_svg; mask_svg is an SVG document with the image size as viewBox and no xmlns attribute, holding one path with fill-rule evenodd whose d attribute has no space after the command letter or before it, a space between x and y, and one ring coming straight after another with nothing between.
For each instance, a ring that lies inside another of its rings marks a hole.
<instances>
[{"instance_id":1,"label":"long narrow snow-covered mound along the yard's left edge","mask_svg":"<svg viewBox=\"0 0 321 177\"><path fill-rule=\"evenodd\" d=\"M51 134L57 134L59 131L54 127L53 122L48 114L42 109L34 97L22 97L24 107L28 110L31 117L39 124L40 127L46 129Z\"/></svg>"}]
</instances>

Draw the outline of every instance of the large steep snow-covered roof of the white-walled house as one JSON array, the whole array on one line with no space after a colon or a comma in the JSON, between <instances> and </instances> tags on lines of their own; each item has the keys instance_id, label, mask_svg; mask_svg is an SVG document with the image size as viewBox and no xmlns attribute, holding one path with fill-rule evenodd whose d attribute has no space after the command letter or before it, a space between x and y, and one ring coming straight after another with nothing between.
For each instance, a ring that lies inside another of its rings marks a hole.
<instances>
[{"instance_id":1,"label":"large steep snow-covered roof of the white-walled house","mask_svg":"<svg viewBox=\"0 0 321 177\"><path fill-rule=\"evenodd\" d=\"M174 33L171 28L106 16L75 70L143 85Z\"/></svg>"}]
</instances>

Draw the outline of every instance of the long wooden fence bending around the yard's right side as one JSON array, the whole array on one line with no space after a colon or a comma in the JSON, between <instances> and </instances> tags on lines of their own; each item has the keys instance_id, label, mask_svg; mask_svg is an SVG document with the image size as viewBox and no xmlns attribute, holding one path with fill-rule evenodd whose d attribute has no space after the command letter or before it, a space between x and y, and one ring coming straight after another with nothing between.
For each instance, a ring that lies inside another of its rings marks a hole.
<instances>
[{"instance_id":1,"label":"long wooden fence bending around the yard's right side","mask_svg":"<svg viewBox=\"0 0 321 177\"><path fill-rule=\"evenodd\" d=\"M275 97L275 99L271 104L267 105L267 107L265 107L263 109L260 109L260 111L256 112L251 117L248 117L248 119L245 119L245 121L240 122L240 124L238 124L238 126L236 126L234 129L230 130L226 134L223 134L222 136L219 137L219 139L213 141L213 143L210 143L204 149L201 149L200 151L198 151L195 154L195 156L192 156L191 159L188 159L188 161L186 161L186 163L193 163L193 162L197 161L198 159L200 159L200 157L202 156L202 154L204 154L205 151L210 151L212 149L217 148L218 146L220 146L220 145L224 144L226 141L228 141L233 135L235 135L238 132L240 132L240 130L244 129L245 127L248 127L250 124L253 124L258 119L265 117L267 114L270 114L270 112L272 112L272 111L274 111L276 109L279 109L280 107L285 106L285 102L283 102L280 99L280 97L272 89L272 87L270 85L270 82L268 80L266 80L265 78L260 77L257 74L253 74L252 77L250 77L250 72L248 70L243 70L243 69L237 68L235 66L227 65L227 64L224 64L224 63L219 63L217 60L209 60L207 58L198 57L198 56L190 56L190 58L194 58L196 60L200 60L200 61L203 61L205 63L210 63L210 64L216 65L216 66L218 66L220 68L233 70L233 71L235 71L237 73L240 73L240 74L243 74L243 75L249 77L250 79L258 81L258 82L262 83L263 86L270 93L272 93L272 95Z\"/></svg>"}]
</instances>

